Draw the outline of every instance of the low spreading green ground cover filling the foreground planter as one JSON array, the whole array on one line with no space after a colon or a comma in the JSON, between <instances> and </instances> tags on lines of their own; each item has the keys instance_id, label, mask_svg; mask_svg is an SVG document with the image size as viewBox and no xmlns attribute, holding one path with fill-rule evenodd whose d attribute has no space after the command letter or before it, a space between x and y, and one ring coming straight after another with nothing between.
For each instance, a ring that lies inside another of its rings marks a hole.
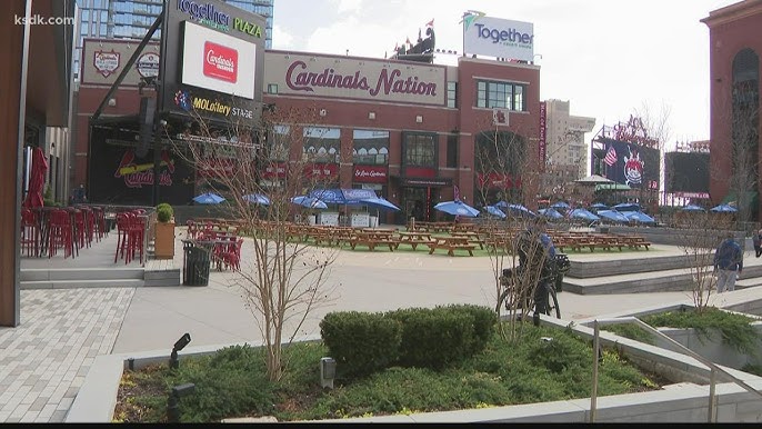
<instances>
[{"instance_id":1,"label":"low spreading green ground cover filling the foreground planter","mask_svg":"<svg viewBox=\"0 0 762 429\"><path fill-rule=\"evenodd\" d=\"M531 327L519 343L495 333L483 352L435 371L392 367L368 377L337 379L335 389L320 388L321 342L284 349L285 376L264 377L263 349L235 346L213 356L189 357L180 368L167 365L126 371L114 421L164 422L173 386L192 382L195 391L181 399L183 422L273 416L279 421L320 420L424 411L445 411L534 403L590 397L591 342L570 329ZM665 380L641 371L613 350L603 353L600 396L659 389Z\"/></svg>"}]
</instances>

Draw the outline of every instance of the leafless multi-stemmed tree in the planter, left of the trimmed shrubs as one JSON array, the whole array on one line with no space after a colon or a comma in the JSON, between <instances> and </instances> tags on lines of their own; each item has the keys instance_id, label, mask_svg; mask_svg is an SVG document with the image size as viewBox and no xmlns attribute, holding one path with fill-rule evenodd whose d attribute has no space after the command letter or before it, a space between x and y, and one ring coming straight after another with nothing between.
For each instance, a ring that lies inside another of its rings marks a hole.
<instances>
[{"instance_id":1,"label":"leafless multi-stemmed tree in the planter, left of the trimmed shrubs","mask_svg":"<svg viewBox=\"0 0 762 429\"><path fill-rule=\"evenodd\" d=\"M318 123L314 110L265 110L261 123L224 127L197 117L193 130L168 136L195 169L197 184L223 194L250 238L245 246L253 252L241 255L253 256L241 261L231 286L240 288L258 322L271 380L283 375L283 345L293 341L313 310L335 299L329 279L338 250L295 239L295 221L308 219L313 209L291 200L327 180L318 154L298 150L303 129ZM257 202L262 196L269 203Z\"/></svg>"}]
</instances>

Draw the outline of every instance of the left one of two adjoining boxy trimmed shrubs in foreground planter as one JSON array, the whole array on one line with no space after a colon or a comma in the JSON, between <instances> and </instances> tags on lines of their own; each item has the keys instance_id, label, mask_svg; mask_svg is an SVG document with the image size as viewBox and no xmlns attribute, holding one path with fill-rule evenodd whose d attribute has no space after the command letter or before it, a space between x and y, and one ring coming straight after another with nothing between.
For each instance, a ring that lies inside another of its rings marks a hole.
<instances>
[{"instance_id":1,"label":"left one of two adjoining boxy trimmed shrubs in foreground planter","mask_svg":"<svg viewBox=\"0 0 762 429\"><path fill-rule=\"evenodd\" d=\"M399 359L402 327L382 313L330 312L320 321L320 336L337 361L337 375L362 377Z\"/></svg>"}]
</instances>

